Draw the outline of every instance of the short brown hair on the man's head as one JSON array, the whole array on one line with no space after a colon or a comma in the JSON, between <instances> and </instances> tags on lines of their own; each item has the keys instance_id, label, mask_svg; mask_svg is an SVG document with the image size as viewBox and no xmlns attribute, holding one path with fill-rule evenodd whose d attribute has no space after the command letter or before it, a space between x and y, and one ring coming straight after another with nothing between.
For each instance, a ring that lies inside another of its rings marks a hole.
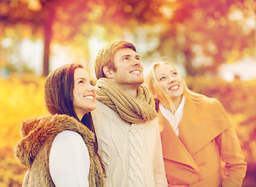
<instances>
[{"instance_id":1,"label":"short brown hair on the man's head","mask_svg":"<svg viewBox=\"0 0 256 187\"><path fill-rule=\"evenodd\" d=\"M113 69L114 71L116 71L114 58L116 55L116 51L121 48L130 48L133 51L137 52L135 46L127 41L113 41L112 43L101 48L95 59L94 65L95 75L97 79L100 79L102 77L105 78L105 73L103 72L104 66L108 66L109 69Z\"/></svg>"}]
</instances>

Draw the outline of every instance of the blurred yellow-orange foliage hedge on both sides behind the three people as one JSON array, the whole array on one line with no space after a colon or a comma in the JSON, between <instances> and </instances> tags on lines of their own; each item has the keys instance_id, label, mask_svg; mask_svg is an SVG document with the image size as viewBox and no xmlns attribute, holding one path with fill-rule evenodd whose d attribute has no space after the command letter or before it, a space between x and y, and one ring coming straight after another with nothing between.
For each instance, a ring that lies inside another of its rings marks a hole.
<instances>
[{"instance_id":1,"label":"blurred yellow-orange foliage hedge on both sides behind the three people","mask_svg":"<svg viewBox=\"0 0 256 187\"><path fill-rule=\"evenodd\" d=\"M43 104L44 77L26 75L0 79L0 186L20 186L27 168L16 159L13 146L20 140L23 119L47 115ZM222 102L240 139L247 176L244 187L256 186L256 80L233 83L223 79L187 76L191 90Z\"/></svg>"}]
</instances>

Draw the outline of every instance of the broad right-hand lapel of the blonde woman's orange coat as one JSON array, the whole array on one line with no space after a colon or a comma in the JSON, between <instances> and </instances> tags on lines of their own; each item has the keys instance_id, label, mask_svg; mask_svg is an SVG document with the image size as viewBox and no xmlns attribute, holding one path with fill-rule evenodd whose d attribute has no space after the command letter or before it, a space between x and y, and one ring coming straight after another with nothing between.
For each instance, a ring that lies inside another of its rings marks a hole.
<instances>
[{"instance_id":1,"label":"broad right-hand lapel of the blonde woman's orange coat","mask_svg":"<svg viewBox=\"0 0 256 187\"><path fill-rule=\"evenodd\" d=\"M179 137L191 156L230 126L219 103L210 103L186 100Z\"/></svg>"}]
</instances>

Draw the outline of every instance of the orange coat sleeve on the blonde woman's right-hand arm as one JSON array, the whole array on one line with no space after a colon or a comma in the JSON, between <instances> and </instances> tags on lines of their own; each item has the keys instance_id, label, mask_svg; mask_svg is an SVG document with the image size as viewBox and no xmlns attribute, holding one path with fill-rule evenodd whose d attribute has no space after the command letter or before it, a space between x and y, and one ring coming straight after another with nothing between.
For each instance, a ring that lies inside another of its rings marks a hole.
<instances>
[{"instance_id":1,"label":"orange coat sleeve on the blonde woman's right-hand arm","mask_svg":"<svg viewBox=\"0 0 256 187\"><path fill-rule=\"evenodd\" d=\"M222 105L220 106L222 108ZM224 113L223 118L226 118L226 120L222 120L222 122L229 122L231 124L224 108L222 108L222 112ZM222 161L226 163L226 172L223 176L222 186L242 186L247 170L247 164L244 161L240 143L232 125L218 136L217 143L219 145Z\"/></svg>"}]
</instances>

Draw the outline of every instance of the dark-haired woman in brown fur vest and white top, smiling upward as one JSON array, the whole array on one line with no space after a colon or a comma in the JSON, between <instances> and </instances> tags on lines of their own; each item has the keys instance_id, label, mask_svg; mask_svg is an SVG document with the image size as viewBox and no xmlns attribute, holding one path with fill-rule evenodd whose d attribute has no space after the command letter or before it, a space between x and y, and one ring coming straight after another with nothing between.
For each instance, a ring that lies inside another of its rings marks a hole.
<instances>
[{"instance_id":1,"label":"dark-haired woman in brown fur vest and white top, smiling upward","mask_svg":"<svg viewBox=\"0 0 256 187\"><path fill-rule=\"evenodd\" d=\"M95 88L82 65L63 65L44 85L51 115L21 125L16 156L29 167L23 186L105 186L91 111Z\"/></svg>"}]
</instances>

